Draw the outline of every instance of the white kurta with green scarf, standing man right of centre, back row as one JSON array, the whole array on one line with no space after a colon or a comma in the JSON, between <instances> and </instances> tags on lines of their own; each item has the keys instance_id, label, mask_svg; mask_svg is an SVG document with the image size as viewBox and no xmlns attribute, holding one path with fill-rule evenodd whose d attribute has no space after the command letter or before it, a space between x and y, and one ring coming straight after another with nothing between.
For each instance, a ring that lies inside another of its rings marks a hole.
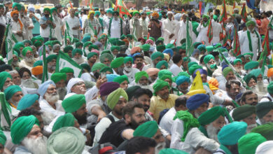
<instances>
[{"instance_id":1,"label":"white kurta with green scarf, standing man right of centre, back row","mask_svg":"<svg viewBox=\"0 0 273 154\"><path fill-rule=\"evenodd\" d=\"M188 22L189 26L189 33L190 36L193 38L193 25L192 22ZM179 22L179 35L177 38L177 45L181 45L180 41L183 38L187 38L187 22L184 22L183 20Z\"/></svg>"}]
</instances>

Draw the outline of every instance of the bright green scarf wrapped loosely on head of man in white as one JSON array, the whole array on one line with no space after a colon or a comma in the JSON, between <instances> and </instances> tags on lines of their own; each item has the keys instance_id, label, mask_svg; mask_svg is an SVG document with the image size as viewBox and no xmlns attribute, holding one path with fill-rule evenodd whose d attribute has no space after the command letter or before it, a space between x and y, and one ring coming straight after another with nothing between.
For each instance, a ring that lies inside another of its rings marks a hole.
<instances>
[{"instance_id":1,"label":"bright green scarf wrapped loosely on head of man in white","mask_svg":"<svg viewBox=\"0 0 273 154\"><path fill-rule=\"evenodd\" d=\"M184 132L183 137L181 138L181 141L185 141L186 136L191 128L193 127L199 127L200 124L198 123L198 120L193 117L193 115L187 110L187 111L178 111L176 112L176 116L174 116L174 120L176 118L179 118L179 120L182 120L184 125Z\"/></svg>"}]
</instances>

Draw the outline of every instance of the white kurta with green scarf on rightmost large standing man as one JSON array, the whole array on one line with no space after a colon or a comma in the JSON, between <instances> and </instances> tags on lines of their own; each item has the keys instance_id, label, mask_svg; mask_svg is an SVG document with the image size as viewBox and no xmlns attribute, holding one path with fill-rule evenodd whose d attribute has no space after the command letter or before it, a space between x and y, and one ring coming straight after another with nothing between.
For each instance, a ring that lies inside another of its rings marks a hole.
<instances>
[{"instance_id":1,"label":"white kurta with green scarf on rightmost large standing man","mask_svg":"<svg viewBox=\"0 0 273 154\"><path fill-rule=\"evenodd\" d=\"M258 46L258 41L260 41L260 34L257 35L255 32L250 33L251 34L251 43L252 43L252 50L249 49L249 41L247 37L247 31L244 31L241 34L241 37L239 38L240 41L240 47L241 47L241 54L245 53L253 53L253 59L252 60L257 60L258 57L258 48L260 48L260 52L262 52L262 43L260 42L260 46Z\"/></svg>"}]
</instances>

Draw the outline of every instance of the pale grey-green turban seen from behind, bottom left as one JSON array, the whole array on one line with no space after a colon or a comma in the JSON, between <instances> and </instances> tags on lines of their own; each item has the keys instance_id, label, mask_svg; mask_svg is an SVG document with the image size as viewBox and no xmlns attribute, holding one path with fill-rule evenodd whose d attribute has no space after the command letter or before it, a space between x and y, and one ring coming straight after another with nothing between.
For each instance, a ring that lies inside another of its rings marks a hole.
<instances>
[{"instance_id":1,"label":"pale grey-green turban seen from behind, bottom left","mask_svg":"<svg viewBox=\"0 0 273 154\"><path fill-rule=\"evenodd\" d=\"M48 153L83 153L85 136L76 127L62 127L53 132L47 141Z\"/></svg>"}]
</instances>

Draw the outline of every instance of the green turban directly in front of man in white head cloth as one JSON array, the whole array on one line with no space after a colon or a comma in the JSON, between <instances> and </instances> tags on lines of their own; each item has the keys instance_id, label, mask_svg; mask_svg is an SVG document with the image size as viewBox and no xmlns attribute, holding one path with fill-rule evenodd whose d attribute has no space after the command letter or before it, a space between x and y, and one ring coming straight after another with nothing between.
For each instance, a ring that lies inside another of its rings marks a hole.
<instances>
[{"instance_id":1,"label":"green turban directly in front of man in white head cloth","mask_svg":"<svg viewBox=\"0 0 273 154\"><path fill-rule=\"evenodd\" d=\"M67 113L73 113L80 109L83 104L86 104L84 94L74 94L71 97L67 97L62 101L62 108Z\"/></svg>"}]
</instances>

